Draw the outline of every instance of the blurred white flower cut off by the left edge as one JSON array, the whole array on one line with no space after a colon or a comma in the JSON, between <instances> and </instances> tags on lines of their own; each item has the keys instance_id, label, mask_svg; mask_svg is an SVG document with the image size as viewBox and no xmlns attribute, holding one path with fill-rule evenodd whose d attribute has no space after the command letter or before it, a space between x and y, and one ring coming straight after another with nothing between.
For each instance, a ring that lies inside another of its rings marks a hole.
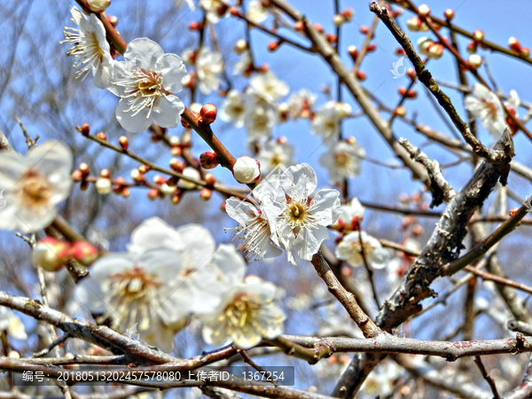
<instances>
[{"instance_id":1,"label":"blurred white flower cut off by the left edge","mask_svg":"<svg viewBox=\"0 0 532 399\"><path fill-rule=\"evenodd\" d=\"M66 145L50 141L32 148L26 158L0 153L0 229L27 233L47 227L70 194L72 159Z\"/></svg>"}]
</instances>

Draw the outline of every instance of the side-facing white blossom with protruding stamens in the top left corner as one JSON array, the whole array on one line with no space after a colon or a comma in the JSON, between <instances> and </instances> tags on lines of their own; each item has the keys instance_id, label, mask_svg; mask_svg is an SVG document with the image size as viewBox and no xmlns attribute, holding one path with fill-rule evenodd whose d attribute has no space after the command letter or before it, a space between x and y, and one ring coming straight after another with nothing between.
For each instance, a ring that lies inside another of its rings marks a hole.
<instances>
[{"instance_id":1,"label":"side-facing white blossom with protruding stamens in the top left corner","mask_svg":"<svg viewBox=\"0 0 532 399\"><path fill-rule=\"evenodd\" d=\"M72 20L80 27L66 27L65 41L72 47L66 54L74 57L74 67L80 66L75 72L75 78L84 80L90 72L94 77L94 84L99 89L106 89L113 76L114 61L111 57L109 43L106 40L106 28L95 14L85 17L76 7L71 10Z\"/></svg>"}]
</instances>

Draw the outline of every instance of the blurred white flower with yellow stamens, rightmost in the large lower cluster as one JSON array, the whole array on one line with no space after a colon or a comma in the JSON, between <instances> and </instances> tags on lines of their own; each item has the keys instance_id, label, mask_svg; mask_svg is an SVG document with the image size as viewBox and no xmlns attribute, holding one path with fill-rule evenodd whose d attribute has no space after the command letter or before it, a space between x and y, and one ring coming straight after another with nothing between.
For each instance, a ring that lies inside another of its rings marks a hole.
<instances>
[{"instance_id":1,"label":"blurred white flower with yellow stamens, rightmost in the large lower cluster","mask_svg":"<svg viewBox=\"0 0 532 399\"><path fill-rule=\"evenodd\" d=\"M274 339L284 331L285 313L274 302L276 287L259 278L246 278L226 293L218 309L200 317L203 338L220 345L232 340L243 349L253 348L262 338Z\"/></svg>"}]
</instances>

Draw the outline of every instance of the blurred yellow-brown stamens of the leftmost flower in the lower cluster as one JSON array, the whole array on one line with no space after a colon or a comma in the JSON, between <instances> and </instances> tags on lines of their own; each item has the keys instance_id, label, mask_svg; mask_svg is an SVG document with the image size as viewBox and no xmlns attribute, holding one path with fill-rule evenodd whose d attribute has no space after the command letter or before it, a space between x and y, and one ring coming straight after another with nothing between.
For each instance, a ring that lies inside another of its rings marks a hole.
<instances>
[{"instance_id":1,"label":"blurred yellow-brown stamens of the leftmost flower in the lower cluster","mask_svg":"<svg viewBox=\"0 0 532 399\"><path fill-rule=\"evenodd\" d=\"M154 275L138 266L109 276L103 289L109 293L109 302L116 311L116 324L131 327L140 318L139 328L147 330L150 316L159 307L159 286Z\"/></svg>"}]
</instances>

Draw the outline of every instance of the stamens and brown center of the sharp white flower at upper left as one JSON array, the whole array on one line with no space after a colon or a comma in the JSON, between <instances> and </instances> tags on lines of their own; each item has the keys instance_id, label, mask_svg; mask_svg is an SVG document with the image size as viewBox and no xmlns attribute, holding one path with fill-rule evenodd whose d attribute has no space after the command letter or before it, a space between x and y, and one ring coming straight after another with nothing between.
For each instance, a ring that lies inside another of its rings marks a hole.
<instances>
[{"instance_id":1,"label":"stamens and brown center of the sharp white flower at upper left","mask_svg":"<svg viewBox=\"0 0 532 399\"><path fill-rule=\"evenodd\" d=\"M162 80L162 74L153 70L146 71L144 68L138 68L126 72L120 81L113 82L113 84L125 88L126 94L121 98L129 98L129 109L125 110L124 113L130 112L131 116L135 116L143 109L148 108L149 112L146 118L149 118L155 101L165 94Z\"/></svg>"}]
</instances>

